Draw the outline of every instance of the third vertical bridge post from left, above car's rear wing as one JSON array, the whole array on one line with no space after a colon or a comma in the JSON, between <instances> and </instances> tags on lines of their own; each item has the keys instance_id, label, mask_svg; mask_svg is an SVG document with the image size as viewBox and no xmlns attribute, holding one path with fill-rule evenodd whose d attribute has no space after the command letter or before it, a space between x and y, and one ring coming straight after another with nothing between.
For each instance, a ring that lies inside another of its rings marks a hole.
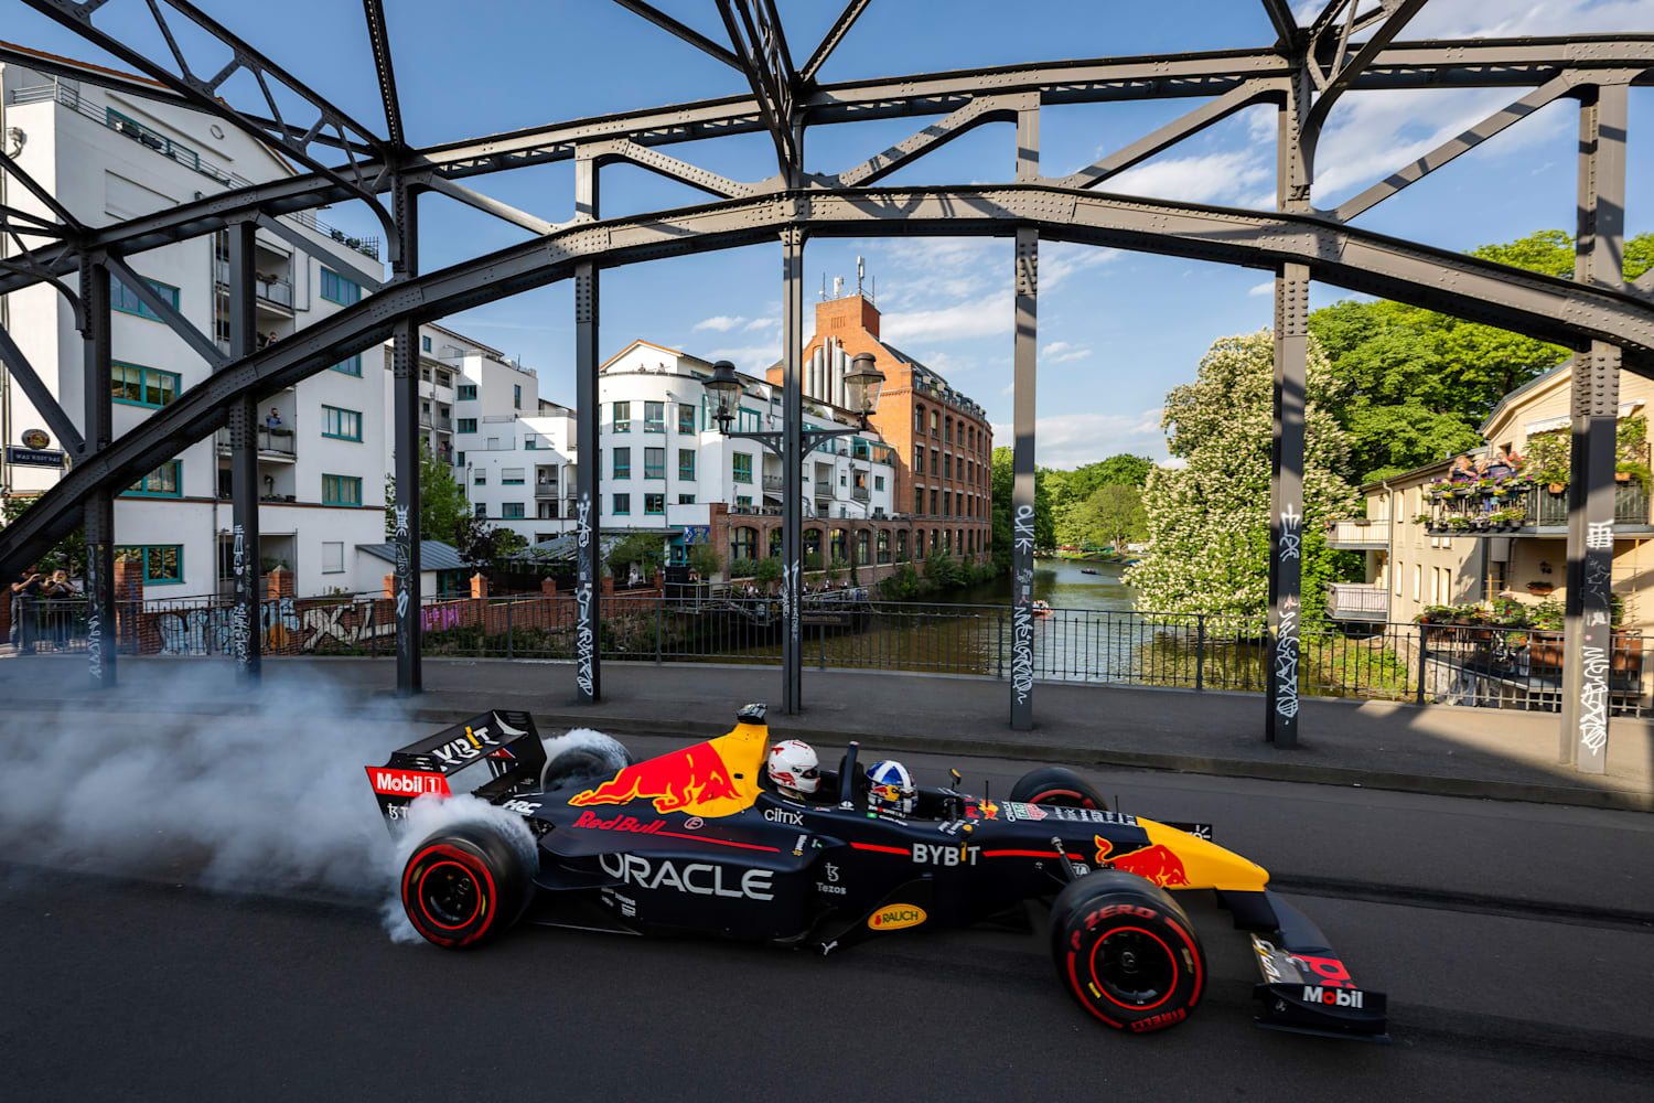
<instances>
[{"instance_id":1,"label":"third vertical bridge post from left, above car's rear wing","mask_svg":"<svg viewBox=\"0 0 1654 1103\"><path fill-rule=\"evenodd\" d=\"M392 261L392 281L418 275L418 195L404 177L390 189L392 217L397 223L400 253ZM397 610L397 696L423 691L420 666L422 595L418 523L418 322L399 321L390 331L392 374L392 448L395 451L397 501L395 524L395 610Z\"/></svg>"}]
</instances>

